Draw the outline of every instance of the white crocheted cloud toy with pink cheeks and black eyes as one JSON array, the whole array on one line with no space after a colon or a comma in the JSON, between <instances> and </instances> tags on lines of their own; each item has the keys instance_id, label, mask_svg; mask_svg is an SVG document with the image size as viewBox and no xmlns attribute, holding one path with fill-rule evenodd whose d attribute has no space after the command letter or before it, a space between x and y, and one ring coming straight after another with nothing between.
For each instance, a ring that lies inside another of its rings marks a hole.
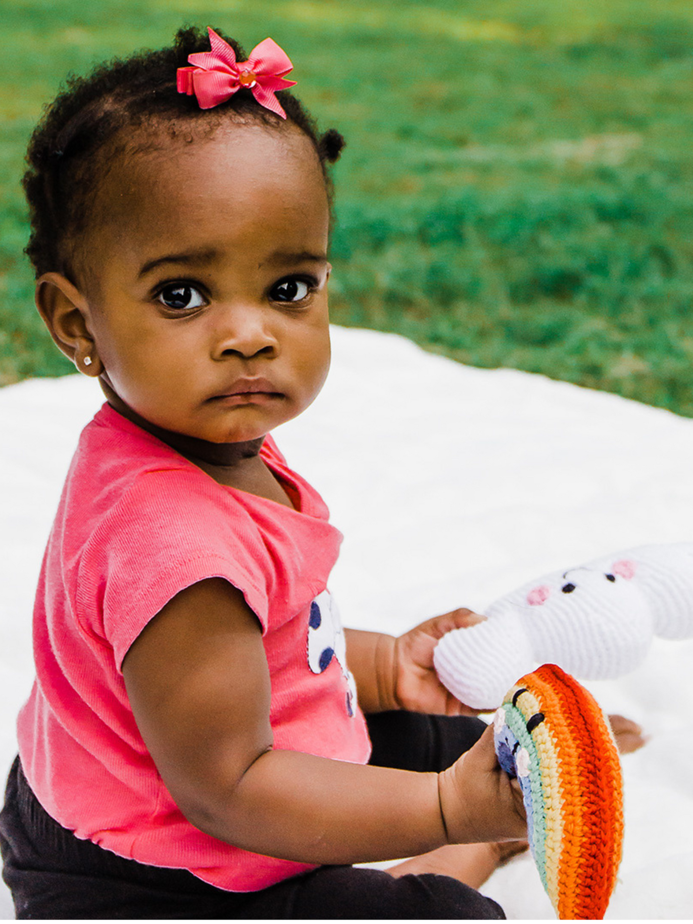
<instances>
[{"instance_id":1,"label":"white crocheted cloud toy with pink cheeks and black eyes","mask_svg":"<svg viewBox=\"0 0 693 924\"><path fill-rule=\"evenodd\" d=\"M648 545L555 572L492 603L485 622L438 642L457 699L494 709L537 664L598 680L643 661L653 636L693 637L693 543Z\"/></svg>"}]
</instances>

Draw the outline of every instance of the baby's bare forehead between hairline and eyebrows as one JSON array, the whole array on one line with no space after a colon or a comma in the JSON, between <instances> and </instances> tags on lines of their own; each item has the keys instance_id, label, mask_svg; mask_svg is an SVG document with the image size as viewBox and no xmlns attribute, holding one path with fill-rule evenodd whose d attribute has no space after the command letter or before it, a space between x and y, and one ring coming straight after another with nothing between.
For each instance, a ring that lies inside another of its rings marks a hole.
<instances>
[{"instance_id":1,"label":"baby's bare forehead between hairline and eyebrows","mask_svg":"<svg viewBox=\"0 0 693 924\"><path fill-rule=\"evenodd\" d=\"M327 247L329 205L310 140L294 126L245 124L118 152L93 203L94 261L161 251ZM85 243L87 243L85 241ZM98 271L97 271L98 272Z\"/></svg>"}]
</instances>

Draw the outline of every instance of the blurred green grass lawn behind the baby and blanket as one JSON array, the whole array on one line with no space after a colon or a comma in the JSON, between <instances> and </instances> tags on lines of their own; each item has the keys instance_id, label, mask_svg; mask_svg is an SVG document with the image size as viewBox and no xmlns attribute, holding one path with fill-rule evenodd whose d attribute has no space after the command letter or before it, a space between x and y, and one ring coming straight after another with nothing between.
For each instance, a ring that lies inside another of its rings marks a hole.
<instances>
[{"instance_id":1,"label":"blurred green grass lawn behind the baby and blanket","mask_svg":"<svg viewBox=\"0 0 693 924\"><path fill-rule=\"evenodd\" d=\"M0 383L70 371L35 315L18 188L69 70L183 21L270 34L347 148L334 320L693 416L688 0L3 2Z\"/></svg>"}]
</instances>

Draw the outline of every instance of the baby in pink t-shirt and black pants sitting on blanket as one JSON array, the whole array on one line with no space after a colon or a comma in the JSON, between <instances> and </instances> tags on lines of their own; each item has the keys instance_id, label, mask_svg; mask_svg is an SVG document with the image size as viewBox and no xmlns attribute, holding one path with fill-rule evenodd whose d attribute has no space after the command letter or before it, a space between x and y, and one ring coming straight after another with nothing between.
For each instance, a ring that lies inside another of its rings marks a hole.
<instances>
[{"instance_id":1,"label":"baby in pink t-shirt and black pants sitting on blanket","mask_svg":"<svg viewBox=\"0 0 693 924\"><path fill-rule=\"evenodd\" d=\"M36 595L18 918L503 917L474 887L521 795L432 665L479 617L342 630L341 536L270 435L327 375L343 145L290 69L181 30L72 79L30 142L37 305L106 403Z\"/></svg>"}]
</instances>

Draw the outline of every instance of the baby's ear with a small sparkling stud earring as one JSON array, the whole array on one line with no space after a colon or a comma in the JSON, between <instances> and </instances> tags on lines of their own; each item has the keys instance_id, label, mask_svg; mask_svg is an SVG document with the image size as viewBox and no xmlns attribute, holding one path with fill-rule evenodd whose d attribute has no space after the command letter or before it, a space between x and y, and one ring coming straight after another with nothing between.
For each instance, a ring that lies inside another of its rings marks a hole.
<instances>
[{"instance_id":1,"label":"baby's ear with a small sparkling stud earring","mask_svg":"<svg viewBox=\"0 0 693 924\"><path fill-rule=\"evenodd\" d=\"M84 375L96 378L103 363L89 329L89 303L59 273L44 273L36 282L36 307L58 349Z\"/></svg>"}]
</instances>

